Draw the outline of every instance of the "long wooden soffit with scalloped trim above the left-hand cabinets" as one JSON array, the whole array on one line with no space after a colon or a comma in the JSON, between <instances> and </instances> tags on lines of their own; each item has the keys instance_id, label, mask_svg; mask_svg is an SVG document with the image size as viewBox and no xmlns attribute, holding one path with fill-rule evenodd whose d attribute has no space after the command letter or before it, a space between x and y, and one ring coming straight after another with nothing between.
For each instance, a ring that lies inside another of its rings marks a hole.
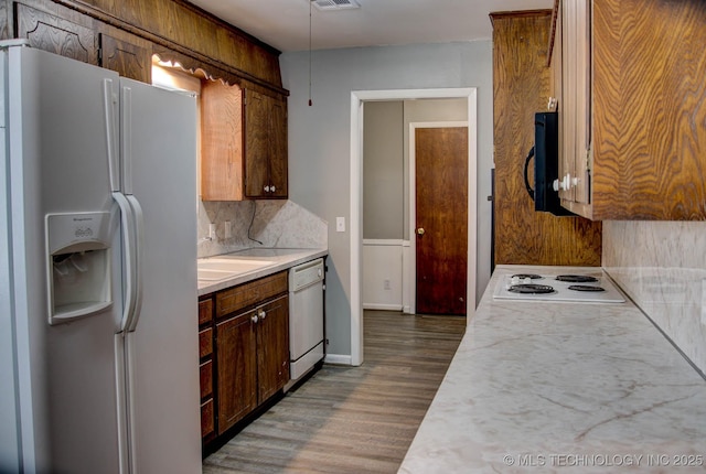
<instances>
[{"instance_id":1,"label":"long wooden soffit with scalloped trim above the left-hand cabinets","mask_svg":"<svg viewBox=\"0 0 706 474\"><path fill-rule=\"evenodd\" d=\"M242 30L185 0L0 0L0 37L13 37L14 11L26 4L96 32L137 36L161 58L232 84L288 95L281 86L279 54Z\"/></svg>"}]
</instances>

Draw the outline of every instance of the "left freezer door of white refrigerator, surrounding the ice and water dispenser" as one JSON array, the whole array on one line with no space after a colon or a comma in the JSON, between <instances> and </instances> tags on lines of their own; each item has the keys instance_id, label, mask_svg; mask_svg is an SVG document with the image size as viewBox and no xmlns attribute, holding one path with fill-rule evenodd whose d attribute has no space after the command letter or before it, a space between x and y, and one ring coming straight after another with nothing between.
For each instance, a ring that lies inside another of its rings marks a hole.
<instances>
[{"instance_id":1,"label":"left freezer door of white refrigerator, surrounding the ice and water dispenser","mask_svg":"<svg viewBox=\"0 0 706 474\"><path fill-rule=\"evenodd\" d=\"M45 216L109 213L114 263L119 216L106 157L103 80L117 74L29 47L8 50L12 298L21 457L25 472L115 473L119 465L115 303L47 324Z\"/></svg>"}]
</instances>

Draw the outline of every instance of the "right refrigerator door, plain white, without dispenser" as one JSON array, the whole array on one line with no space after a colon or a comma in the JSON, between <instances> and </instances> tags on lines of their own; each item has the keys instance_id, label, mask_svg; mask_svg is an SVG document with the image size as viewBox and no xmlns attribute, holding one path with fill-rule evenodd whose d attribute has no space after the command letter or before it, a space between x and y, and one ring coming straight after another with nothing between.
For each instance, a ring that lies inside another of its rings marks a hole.
<instances>
[{"instance_id":1,"label":"right refrigerator door, plain white, without dispenser","mask_svg":"<svg viewBox=\"0 0 706 474\"><path fill-rule=\"evenodd\" d=\"M142 302L126 335L131 463L141 474L201 472L196 104L124 78L120 89L122 188L145 222Z\"/></svg>"}]
</instances>

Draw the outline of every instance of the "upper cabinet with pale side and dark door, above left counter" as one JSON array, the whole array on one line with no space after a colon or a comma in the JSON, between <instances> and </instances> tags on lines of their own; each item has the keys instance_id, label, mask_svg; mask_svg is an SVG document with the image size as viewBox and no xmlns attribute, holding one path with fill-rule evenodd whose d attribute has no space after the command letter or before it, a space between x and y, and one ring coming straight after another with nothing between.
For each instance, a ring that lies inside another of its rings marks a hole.
<instances>
[{"instance_id":1,"label":"upper cabinet with pale side and dark door, above left counter","mask_svg":"<svg viewBox=\"0 0 706 474\"><path fill-rule=\"evenodd\" d=\"M201 100L201 198L287 198L286 101L220 80Z\"/></svg>"}]
</instances>

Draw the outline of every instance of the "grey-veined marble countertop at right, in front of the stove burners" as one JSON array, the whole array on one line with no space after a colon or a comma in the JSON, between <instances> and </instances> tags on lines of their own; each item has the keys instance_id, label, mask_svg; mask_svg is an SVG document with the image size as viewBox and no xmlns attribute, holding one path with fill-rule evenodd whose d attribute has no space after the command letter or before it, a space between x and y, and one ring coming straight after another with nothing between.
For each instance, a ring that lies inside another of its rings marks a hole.
<instances>
[{"instance_id":1,"label":"grey-veined marble countertop at right, in front of the stove burners","mask_svg":"<svg viewBox=\"0 0 706 474\"><path fill-rule=\"evenodd\" d=\"M399 473L706 471L706 381L637 306L492 298L568 270L496 268Z\"/></svg>"}]
</instances>

